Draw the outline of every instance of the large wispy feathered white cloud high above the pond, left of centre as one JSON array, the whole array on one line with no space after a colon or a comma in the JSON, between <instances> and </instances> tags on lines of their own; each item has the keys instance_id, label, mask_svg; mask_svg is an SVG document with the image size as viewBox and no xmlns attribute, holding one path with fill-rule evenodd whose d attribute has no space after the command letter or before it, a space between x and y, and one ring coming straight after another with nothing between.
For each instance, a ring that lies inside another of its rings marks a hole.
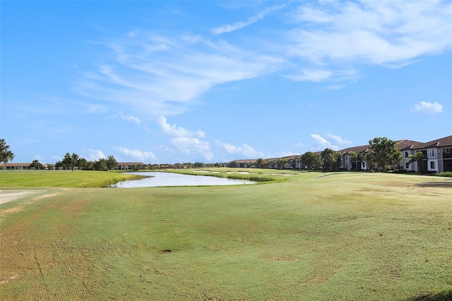
<instances>
[{"instance_id":1,"label":"large wispy feathered white cloud high above the pond, left of centre","mask_svg":"<svg viewBox=\"0 0 452 301\"><path fill-rule=\"evenodd\" d=\"M86 73L77 90L149 118L170 116L196 105L215 85L267 75L284 64L280 57L239 49L225 40L189 37L140 30L105 42L111 50L108 63Z\"/></svg>"}]
</instances>

